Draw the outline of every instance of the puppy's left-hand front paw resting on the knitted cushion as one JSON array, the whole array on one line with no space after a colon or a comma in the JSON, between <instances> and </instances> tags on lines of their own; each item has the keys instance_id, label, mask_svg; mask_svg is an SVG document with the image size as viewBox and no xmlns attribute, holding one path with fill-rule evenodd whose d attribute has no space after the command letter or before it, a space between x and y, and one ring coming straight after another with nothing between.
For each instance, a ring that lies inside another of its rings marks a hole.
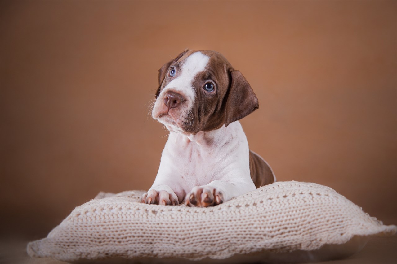
<instances>
[{"instance_id":1,"label":"puppy's left-hand front paw resting on the knitted cushion","mask_svg":"<svg viewBox=\"0 0 397 264\"><path fill-rule=\"evenodd\" d=\"M178 197L172 188L166 184L151 187L147 193L142 195L141 203L152 205L178 205Z\"/></svg>"}]
</instances>

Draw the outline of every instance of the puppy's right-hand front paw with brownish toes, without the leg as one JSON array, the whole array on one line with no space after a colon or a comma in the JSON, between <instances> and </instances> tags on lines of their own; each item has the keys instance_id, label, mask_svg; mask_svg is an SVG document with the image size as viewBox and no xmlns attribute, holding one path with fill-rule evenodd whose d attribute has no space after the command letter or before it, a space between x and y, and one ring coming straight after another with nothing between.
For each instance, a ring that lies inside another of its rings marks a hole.
<instances>
[{"instance_id":1,"label":"puppy's right-hand front paw with brownish toes, without the leg","mask_svg":"<svg viewBox=\"0 0 397 264\"><path fill-rule=\"evenodd\" d=\"M224 196L211 186L196 186L186 196L186 205L197 207L209 207L223 203Z\"/></svg>"}]
</instances>

